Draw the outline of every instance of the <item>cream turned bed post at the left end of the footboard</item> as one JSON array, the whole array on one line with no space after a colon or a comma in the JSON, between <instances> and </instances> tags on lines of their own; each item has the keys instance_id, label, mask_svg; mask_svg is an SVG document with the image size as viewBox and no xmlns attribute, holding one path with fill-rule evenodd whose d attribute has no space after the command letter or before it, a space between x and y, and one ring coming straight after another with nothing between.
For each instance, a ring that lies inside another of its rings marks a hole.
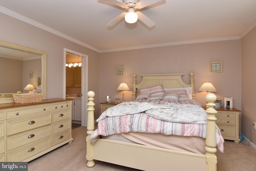
<instances>
[{"instance_id":1,"label":"cream turned bed post at the left end of the footboard","mask_svg":"<svg viewBox=\"0 0 256 171\"><path fill-rule=\"evenodd\" d=\"M86 159L88 160L87 162L87 167L94 167L95 163L93 161L92 157L92 143L90 142L90 135L94 131L94 105L95 103L93 102L94 100L94 95L95 93L93 91L88 91L88 121L87 121L87 137L86 137Z\"/></svg>"}]
</instances>

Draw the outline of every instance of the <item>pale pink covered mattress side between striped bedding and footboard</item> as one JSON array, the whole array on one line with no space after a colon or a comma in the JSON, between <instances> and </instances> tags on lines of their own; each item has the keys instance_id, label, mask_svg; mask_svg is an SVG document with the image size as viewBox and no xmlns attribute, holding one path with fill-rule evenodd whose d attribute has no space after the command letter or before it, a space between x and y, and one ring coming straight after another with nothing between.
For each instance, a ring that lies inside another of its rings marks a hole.
<instances>
[{"instance_id":1,"label":"pale pink covered mattress side between striped bedding and footboard","mask_svg":"<svg viewBox=\"0 0 256 171\"><path fill-rule=\"evenodd\" d=\"M160 147L177 151L205 154L205 139L202 137L188 137L178 135L164 135L160 133L129 132L119 133L101 138L138 143L149 147Z\"/></svg>"}]
</instances>

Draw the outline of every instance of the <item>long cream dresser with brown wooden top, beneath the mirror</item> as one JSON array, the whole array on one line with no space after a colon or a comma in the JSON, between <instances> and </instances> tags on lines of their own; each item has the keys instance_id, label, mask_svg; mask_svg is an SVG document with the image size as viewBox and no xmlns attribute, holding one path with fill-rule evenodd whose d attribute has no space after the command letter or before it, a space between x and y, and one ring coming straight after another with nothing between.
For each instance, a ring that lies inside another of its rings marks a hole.
<instances>
[{"instance_id":1,"label":"long cream dresser with brown wooden top, beneath the mirror","mask_svg":"<svg viewBox=\"0 0 256 171\"><path fill-rule=\"evenodd\" d=\"M31 161L72 142L71 99L0 104L0 161Z\"/></svg>"}]
</instances>

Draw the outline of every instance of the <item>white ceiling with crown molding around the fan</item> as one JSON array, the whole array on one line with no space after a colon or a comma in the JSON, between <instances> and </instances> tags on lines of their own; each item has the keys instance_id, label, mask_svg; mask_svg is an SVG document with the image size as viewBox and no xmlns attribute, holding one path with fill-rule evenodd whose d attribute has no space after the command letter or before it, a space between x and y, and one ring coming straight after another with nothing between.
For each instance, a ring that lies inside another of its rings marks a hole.
<instances>
[{"instance_id":1,"label":"white ceiling with crown molding around the fan","mask_svg":"<svg viewBox=\"0 0 256 171\"><path fill-rule=\"evenodd\" d=\"M256 26L256 0L162 0L140 11L156 25L108 28L125 10L104 0L0 1L0 12L97 52L235 40Z\"/></svg>"}]
</instances>

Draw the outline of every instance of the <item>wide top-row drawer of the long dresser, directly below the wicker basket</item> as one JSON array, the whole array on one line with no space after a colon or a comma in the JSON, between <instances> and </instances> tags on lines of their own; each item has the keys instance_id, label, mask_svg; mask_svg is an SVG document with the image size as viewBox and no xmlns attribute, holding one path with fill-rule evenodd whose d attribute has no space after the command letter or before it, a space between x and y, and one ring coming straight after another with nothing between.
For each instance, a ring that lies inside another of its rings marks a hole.
<instances>
[{"instance_id":1,"label":"wide top-row drawer of the long dresser, directly below the wicker basket","mask_svg":"<svg viewBox=\"0 0 256 171\"><path fill-rule=\"evenodd\" d=\"M15 107L12 110L6 111L6 119L12 118L20 118L28 115L35 115L38 113L47 113L50 112L50 105L40 105L40 106L32 106L32 107Z\"/></svg>"}]
</instances>

